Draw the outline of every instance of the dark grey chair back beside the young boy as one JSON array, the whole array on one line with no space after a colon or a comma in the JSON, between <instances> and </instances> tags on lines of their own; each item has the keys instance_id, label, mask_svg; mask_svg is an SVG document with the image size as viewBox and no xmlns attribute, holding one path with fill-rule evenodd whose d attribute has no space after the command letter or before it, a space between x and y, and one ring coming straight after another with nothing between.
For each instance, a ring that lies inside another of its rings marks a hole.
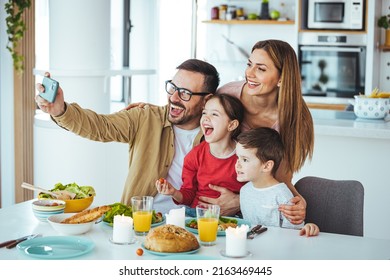
<instances>
[{"instance_id":1,"label":"dark grey chair back beside the young boy","mask_svg":"<svg viewBox=\"0 0 390 280\"><path fill-rule=\"evenodd\" d=\"M363 236L363 185L354 180L304 177L295 184L307 202L305 222L323 232Z\"/></svg>"}]
</instances>

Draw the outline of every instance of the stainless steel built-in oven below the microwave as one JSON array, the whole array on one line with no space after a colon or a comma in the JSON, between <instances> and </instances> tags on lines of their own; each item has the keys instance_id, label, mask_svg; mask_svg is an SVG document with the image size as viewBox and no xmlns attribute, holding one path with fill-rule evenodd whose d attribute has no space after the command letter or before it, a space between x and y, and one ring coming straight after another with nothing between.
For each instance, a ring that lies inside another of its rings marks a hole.
<instances>
[{"instance_id":1,"label":"stainless steel built-in oven below the microwave","mask_svg":"<svg viewBox=\"0 0 390 280\"><path fill-rule=\"evenodd\" d=\"M299 34L302 94L353 97L364 92L366 34Z\"/></svg>"}]
</instances>

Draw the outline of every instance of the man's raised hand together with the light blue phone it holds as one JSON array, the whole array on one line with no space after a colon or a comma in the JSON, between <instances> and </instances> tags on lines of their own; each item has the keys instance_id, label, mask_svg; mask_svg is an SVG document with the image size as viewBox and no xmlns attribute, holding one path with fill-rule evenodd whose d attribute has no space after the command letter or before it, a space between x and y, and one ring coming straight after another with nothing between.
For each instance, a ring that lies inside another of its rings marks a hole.
<instances>
[{"instance_id":1,"label":"man's raised hand together with the light blue phone it holds","mask_svg":"<svg viewBox=\"0 0 390 280\"><path fill-rule=\"evenodd\" d=\"M45 113L58 117L65 113L64 94L59 83L50 79L50 73L46 72L42 84L37 84L38 94L35 102Z\"/></svg>"}]
</instances>

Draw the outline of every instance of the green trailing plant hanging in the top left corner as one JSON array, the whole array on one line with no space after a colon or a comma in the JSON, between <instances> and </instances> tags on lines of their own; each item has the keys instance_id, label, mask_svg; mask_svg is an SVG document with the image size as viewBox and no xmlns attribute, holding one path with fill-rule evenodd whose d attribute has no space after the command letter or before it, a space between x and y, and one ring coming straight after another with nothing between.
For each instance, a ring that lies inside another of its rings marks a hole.
<instances>
[{"instance_id":1,"label":"green trailing plant hanging in the top left corner","mask_svg":"<svg viewBox=\"0 0 390 280\"><path fill-rule=\"evenodd\" d=\"M20 40L22 40L26 31L23 13L31 6L31 0L9 0L5 3L4 8L7 14L5 19L7 24L8 43L7 49L10 51L14 61L14 69L23 72L23 59L16 49Z\"/></svg>"}]
</instances>

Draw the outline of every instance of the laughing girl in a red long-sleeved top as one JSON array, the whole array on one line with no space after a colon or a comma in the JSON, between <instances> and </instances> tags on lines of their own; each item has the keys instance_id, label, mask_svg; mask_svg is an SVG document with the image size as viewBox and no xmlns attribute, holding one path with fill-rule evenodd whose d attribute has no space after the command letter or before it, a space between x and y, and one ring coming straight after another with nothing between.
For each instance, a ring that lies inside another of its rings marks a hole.
<instances>
[{"instance_id":1,"label":"laughing girl in a red long-sleeved top","mask_svg":"<svg viewBox=\"0 0 390 280\"><path fill-rule=\"evenodd\" d=\"M200 126L205 141L193 148L184 158L183 185L176 189L165 179L156 181L157 191L170 195L176 204L195 208L200 196L217 198L220 193L209 184L239 193L244 183L237 181L235 172L236 143L243 120L241 102L225 94L213 95L205 104Z\"/></svg>"}]
</instances>

